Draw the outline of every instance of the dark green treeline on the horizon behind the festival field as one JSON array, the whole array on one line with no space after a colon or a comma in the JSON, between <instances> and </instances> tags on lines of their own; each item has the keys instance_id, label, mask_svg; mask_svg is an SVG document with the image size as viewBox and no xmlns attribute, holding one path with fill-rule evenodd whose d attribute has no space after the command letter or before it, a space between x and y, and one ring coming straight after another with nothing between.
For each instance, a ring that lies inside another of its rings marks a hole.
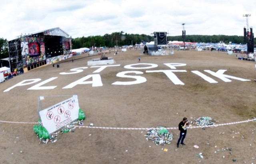
<instances>
[{"instance_id":1,"label":"dark green treeline on the horizon behind the festival field","mask_svg":"<svg viewBox=\"0 0 256 164\"><path fill-rule=\"evenodd\" d=\"M168 36L168 41L183 41L182 36ZM112 34L105 34L104 36L88 36L82 38L72 38L72 49L83 47L114 47L123 45L135 45L141 42L154 41L154 36L145 34L127 34L124 32L114 32ZM204 42L204 43L218 43L229 42L236 44L245 44L243 36L227 36L227 35L187 35L186 42ZM254 38L254 43L256 39Z\"/></svg>"}]
</instances>

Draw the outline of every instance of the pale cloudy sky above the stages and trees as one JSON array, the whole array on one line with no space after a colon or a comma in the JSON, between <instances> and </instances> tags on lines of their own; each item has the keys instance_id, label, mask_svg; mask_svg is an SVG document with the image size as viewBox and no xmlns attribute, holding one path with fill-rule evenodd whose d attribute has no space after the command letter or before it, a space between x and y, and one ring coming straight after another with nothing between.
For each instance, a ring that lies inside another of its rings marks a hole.
<instances>
[{"instance_id":1,"label":"pale cloudy sky above the stages and trees","mask_svg":"<svg viewBox=\"0 0 256 164\"><path fill-rule=\"evenodd\" d=\"M256 0L2 0L0 38L59 27L72 38L113 32L169 36L256 31ZM255 33L255 32L254 32Z\"/></svg>"}]
</instances>

